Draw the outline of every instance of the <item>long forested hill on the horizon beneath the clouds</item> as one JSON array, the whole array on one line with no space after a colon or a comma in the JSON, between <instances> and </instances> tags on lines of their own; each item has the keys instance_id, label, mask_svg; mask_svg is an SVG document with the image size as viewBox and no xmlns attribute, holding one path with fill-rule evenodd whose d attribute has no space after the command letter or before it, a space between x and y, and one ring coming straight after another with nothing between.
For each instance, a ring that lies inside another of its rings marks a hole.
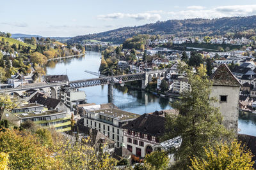
<instances>
[{"instance_id":1,"label":"long forested hill on the horizon beneath the clouds","mask_svg":"<svg viewBox=\"0 0 256 170\"><path fill-rule=\"evenodd\" d=\"M250 30L253 29L253 30ZM167 20L138 27L123 27L111 31L76 36L69 43L81 43L85 39L122 43L135 34L159 34L173 36L252 36L256 29L256 15L250 17L225 17L215 19ZM250 30L250 31L248 31ZM230 34L231 32L231 34Z\"/></svg>"}]
</instances>

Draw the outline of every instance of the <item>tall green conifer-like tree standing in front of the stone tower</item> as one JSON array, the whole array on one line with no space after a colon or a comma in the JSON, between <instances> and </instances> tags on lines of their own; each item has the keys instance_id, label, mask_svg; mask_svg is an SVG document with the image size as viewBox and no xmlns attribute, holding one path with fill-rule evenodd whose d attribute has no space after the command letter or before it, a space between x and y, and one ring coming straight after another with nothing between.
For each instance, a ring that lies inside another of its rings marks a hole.
<instances>
[{"instance_id":1,"label":"tall green conifer-like tree standing in front of the stone tower","mask_svg":"<svg viewBox=\"0 0 256 170\"><path fill-rule=\"evenodd\" d=\"M196 74L183 63L180 73L185 73L190 91L182 94L180 101L172 104L179 114L166 118L165 139L182 137L177 150L170 150L179 157L176 165L180 169L191 165L190 157L204 157L204 147L214 146L223 139L232 139L234 135L223 126L223 117L212 103L216 100L209 97L212 81L207 79L205 71L200 67Z\"/></svg>"}]
</instances>

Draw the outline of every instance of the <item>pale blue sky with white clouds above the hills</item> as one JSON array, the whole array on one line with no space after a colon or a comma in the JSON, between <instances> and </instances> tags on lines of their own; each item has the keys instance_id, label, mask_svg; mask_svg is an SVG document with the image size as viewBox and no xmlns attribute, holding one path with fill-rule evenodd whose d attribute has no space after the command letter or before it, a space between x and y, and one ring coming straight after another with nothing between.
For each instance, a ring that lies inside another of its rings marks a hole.
<instances>
[{"instance_id":1,"label":"pale blue sky with white clouds above the hills","mask_svg":"<svg viewBox=\"0 0 256 170\"><path fill-rule=\"evenodd\" d=\"M256 15L255 0L0 0L0 31L79 36L170 19Z\"/></svg>"}]
</instances>

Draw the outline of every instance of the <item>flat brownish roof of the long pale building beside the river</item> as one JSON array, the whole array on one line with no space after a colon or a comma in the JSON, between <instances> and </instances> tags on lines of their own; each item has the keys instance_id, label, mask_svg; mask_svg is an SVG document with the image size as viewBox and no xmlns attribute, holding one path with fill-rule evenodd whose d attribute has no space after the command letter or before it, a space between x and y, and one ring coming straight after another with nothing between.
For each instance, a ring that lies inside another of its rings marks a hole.
<instances>
[{"instance_id":1,"label":"flat brownish roof of the long pale building beside the river","mask_svg":"<svg viewBox=\"0 0 256 170\"><path fill-rule=\"evenodd\" d=\"M104 110L95 110L93 111L94 113L99 113L100 115L108 115L110 117L116 118L118 120L130 120L134 118L140 117L140 115L127 112L124 110L119 110L116 108L109 108L109 109L104 109Z\"/></svg>"}]
</instances>

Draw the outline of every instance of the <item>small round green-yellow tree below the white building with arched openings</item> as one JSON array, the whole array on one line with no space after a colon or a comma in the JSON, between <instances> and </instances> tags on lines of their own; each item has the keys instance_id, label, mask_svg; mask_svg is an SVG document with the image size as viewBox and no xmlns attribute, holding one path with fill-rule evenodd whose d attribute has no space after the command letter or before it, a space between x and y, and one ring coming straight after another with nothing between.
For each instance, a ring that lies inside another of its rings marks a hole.
<instances>
[{"instance_id":1,"label":"small round green-yellow tree below the white building with arched openings","mask_svg":"<svg viewBox=\"0 0 256 170\"><path fill-rule=\"evenodd\" d=\"M166 169L169 163L168 154L163 151L154 151L145 156L146 164L150 164L156 169Z\"/></svg>"}]
</instances>

